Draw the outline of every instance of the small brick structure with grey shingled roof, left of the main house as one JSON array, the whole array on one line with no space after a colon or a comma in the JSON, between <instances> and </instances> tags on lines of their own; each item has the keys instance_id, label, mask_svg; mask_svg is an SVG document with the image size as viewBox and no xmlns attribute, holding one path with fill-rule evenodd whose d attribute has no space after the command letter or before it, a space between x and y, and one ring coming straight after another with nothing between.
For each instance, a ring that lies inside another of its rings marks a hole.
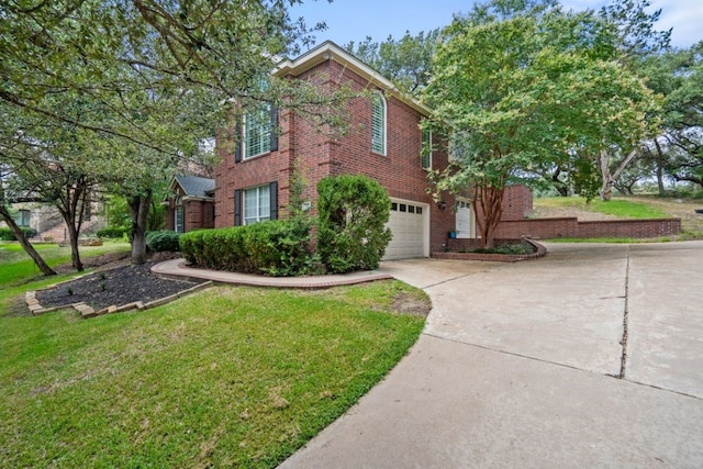
<instances>
[{"instance_id":1,"label":"small brick structure with grey shingled roof, left of the main house","mask_svg":"<svg viewBox=\"0 0 703 469\"><path fill-rule=\"evenodd\" d=\"M164 201L166 230L178 233L214 227L214 179L175 176Z\"/></svg>"}]
</instances>

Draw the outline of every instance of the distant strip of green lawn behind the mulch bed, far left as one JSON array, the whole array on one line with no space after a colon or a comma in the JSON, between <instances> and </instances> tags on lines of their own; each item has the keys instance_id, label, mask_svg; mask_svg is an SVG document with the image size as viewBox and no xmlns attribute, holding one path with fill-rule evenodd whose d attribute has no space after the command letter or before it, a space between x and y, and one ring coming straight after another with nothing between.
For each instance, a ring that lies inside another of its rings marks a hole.
<instances>
[{"instance_id":1,"label":"distant strip of green lawn behind the mulch bed, far left","mask_svg":"<svg viewBox=\"0 0 703 469\"><path fill-rule=\"evenodd\" d=\"M51 267L70 263L70 247L59 247L56 244L36 244L34 248ZM130 244L108 242L102 246L81 246L80 256L81 259L86 259L120 250L130 250ZM42 276L41 270L36 268L34 261L24 253L18 242L0 242L0 290Z\"/></svg>"}]
</instances>

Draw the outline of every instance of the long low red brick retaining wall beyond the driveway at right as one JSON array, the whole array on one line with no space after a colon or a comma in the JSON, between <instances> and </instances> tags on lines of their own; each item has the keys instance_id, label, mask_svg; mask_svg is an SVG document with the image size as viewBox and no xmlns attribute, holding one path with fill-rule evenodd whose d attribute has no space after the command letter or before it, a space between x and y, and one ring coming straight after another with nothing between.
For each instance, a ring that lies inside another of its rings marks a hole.
<instances>
[{"instance_id":1,"label":"long low red brick retaining wall beyond the driveway at right","mask_svg":"<svg viewBox=\"0 0 703 469\"><path fill-rule=\"evenodd\" d=\"M500 238L633 237L649 238L681 233L680 219L610 220L579 222L576 217L503 221L495 233Z\"/></svg>"}]
</instances>

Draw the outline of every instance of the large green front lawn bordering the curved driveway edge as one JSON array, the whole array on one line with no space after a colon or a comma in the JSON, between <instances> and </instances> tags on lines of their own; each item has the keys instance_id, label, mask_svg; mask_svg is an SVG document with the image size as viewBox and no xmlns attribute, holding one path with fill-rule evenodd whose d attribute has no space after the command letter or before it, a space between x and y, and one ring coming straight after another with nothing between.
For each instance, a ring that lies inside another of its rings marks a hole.
<instances>
[{"instance_id":1,"label":"large green front lawn bordering the curved driveway edge","mask_svg":"<svg viewBox=\"0 0 703 469\"><path fill-rule=\"evenodd\" d=\"M0 315L0 467L275 467L416 340L401 294L427 301L389 280Z\"/></svg>"}]
</instances>

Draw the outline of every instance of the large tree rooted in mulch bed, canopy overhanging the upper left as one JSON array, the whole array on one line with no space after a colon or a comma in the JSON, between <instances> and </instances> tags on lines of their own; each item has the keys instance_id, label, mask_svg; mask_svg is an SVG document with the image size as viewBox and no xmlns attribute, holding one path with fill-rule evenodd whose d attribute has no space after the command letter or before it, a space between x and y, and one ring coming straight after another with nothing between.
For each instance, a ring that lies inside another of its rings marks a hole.
<instances>
[{"instance_id":1,"label":"large tree rooted in mulch bed, canopy overhanging the upper left","mask_svg":"<svg viewBox=\"0 0 703 469\"><path fill-rule=\"evenodd\" d=\"M132 169L163 174L249 104L268 101L327 122L334 97L303 81L258 86L310 38L287 13L299 2L0 0L0 102L24 120L93 132L102 148L97 175L134 187L131 205L144 206L138 199L148 199L150 182L126 183ZM89 101L90 112L57 110L58 94ZM22 132L13 122L0 122L0 134ZM144 261L141 235L133 249L133 261Z\"/></svg>"}]
</instances>

